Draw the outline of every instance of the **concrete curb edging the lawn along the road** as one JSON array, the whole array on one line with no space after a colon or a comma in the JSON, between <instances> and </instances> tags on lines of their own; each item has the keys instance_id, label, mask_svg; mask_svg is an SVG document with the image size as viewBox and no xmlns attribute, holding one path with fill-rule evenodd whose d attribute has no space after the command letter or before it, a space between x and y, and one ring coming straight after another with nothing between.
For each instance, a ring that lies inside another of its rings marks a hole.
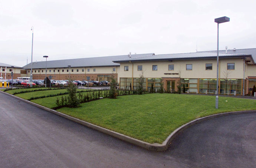
<instances>
[{"instance_id":1,"label":"concrete curb edging the lawn along the road","mask_svg":"<svg viewBox=\"0 0 256 168\"><path fill-rule=\"evenodd\" d=\"M111 135L111 136L114 136L118 139L121 139L123 141L126 141L126 142L129 142L131 144L134 144L134 145L137 145L137 146L141 146L142 148L146 148L146 149L150 149L152 151L164 151L166 150L171 141L173 141L173 139L180 133L182 132L184 129L190 127L191 125L194 125L198 122L202 122L204 120L207 120L207 119L211 119L211 118L215 118L215 117L219 117L219 116L225 116L225 115L232 115L232 114L241 114L241 113L255 113L256 110L251 110L251 111L236 111L236 112L226 112L226 113L219 113L219 114L214 114L214 115L210 115L210 116L206 116L206 117L203 117L203 118L198 118L198 119L195 119L193 121L190 121L182 126L180 126L179 128L175 129L166 139L165 141L162 143L162 144L158 144L158 143L154 143L154 144L150 144L148 142L144 142L144 141L141 141L139 139L135 139L135 138L131 138L127 135L124 135L124 134L120 134L118 132L115 132L115 131L111 131L109 129L106 129L106 128L102 128L100 126L97 126L97 125L94 125L92 123L89 123L89 122L86 122L86 121L82 121L80 119L77 119L77 118L74 118L72 116L69 116L69 115L66 115L66 114L63 114L61 112L58 112L58 111L55 111L55 110L52 110L52 109L49 109L49 108L46 108L44 106L41 106L41 105L38 105L36 103L33 103L33 102L30 102L30 101L27 101L25 99L22 99L22 98L19 98L17 96L14 96L14 95L11 95L9 93L6 93L6 92L3 92L0 90L0 92L6 94L6 95L9 95L9 96L12 96L13 98L16 98L16 99L19 99L20 101L23 101L23 102L26 102L26 103L29 103L33 106L36 106L38 108L41 108L41 109L44 109L46 111L49 111L49 112L52 112L56 115L59 115L59 116L62 116L66 119L69 119L69 120L72 120L74 122L77 122L77 123L80 123L82 125L85 125L89 128L92 128L92 129L96 129L97 131L101 131L101 132L104 132L105 134L108 134L108 135Z\"/></svg>"}]
</instances>

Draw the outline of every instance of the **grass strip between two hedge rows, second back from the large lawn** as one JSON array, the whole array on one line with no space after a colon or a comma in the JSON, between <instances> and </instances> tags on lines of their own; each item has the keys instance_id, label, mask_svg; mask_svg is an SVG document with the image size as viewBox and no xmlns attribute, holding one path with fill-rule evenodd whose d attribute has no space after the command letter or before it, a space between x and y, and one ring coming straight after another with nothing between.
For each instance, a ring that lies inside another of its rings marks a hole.
<instances>
[{"instance_id":1,"label":"grass strip between two hedge rows, second back from the large lawn","mask_svg":"<svg viewBox=\"0 0 256 168\"><path fill-rule=\"evenodd\" d=\"M67 89L57 89L57 90L54 89L54 90L43 90L43 91L20 93L20 94L16 94L15 96L27 100L32 97L53 95L53 94L65 93L65 92L67 92Z\"/></svg>"}]
</instances>

